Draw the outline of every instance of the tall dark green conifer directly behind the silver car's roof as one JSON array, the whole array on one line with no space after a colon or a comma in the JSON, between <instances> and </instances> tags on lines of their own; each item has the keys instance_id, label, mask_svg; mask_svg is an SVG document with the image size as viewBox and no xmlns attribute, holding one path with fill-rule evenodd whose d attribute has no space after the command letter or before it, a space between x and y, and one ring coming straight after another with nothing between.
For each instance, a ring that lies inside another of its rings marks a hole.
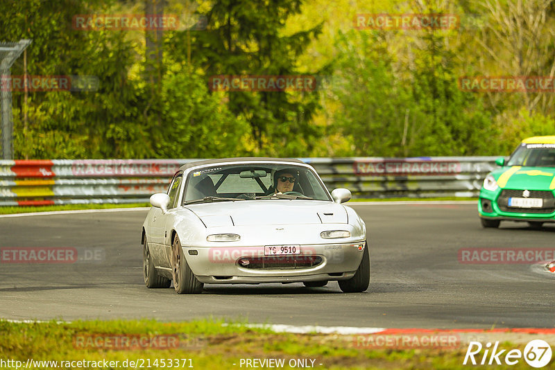
<instances>
[{"instance_id":1,"label":"tall dark green conifer directly behind the silver car's roof","mask_svg":"<svg viewBox=\"0 0 555 370\"><path fill-rule=\"evenodd\" d=\"M172 55L185 62L191 37L192 63L205 76L293 76L296 60L321 26L283 35L285 21L300 12L301 0L214 1L207 12L207 29L176 32L168 42ZM316 72L316 71L314 71ZM228 108L250 125L253 155L303 156L322 136L311 118L318 109L314 93L230 91Z\"/></svg>"}]
</instances>

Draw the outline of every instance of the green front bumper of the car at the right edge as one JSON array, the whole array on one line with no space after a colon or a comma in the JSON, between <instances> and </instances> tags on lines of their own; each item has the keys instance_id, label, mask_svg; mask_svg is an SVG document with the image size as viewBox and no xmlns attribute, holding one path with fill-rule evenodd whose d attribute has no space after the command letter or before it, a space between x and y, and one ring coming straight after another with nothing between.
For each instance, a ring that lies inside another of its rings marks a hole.
<instances>
[{"instance_id":1,"label":"green front bumper of the car at the right edge","mask_svg":"<svg viewBox=\"0 0 555 370\"><path fill-rule=\"evenodd\" d=\"M525 209L509 208L506 206L506 200L501 197L503 190L502 188L497 188L495 191L488 191L481 188L478 200L478 213L481 218L488 220L555 222L555 211L550 211L550 209L527 211Z\"/></svg>"}]
</instances>

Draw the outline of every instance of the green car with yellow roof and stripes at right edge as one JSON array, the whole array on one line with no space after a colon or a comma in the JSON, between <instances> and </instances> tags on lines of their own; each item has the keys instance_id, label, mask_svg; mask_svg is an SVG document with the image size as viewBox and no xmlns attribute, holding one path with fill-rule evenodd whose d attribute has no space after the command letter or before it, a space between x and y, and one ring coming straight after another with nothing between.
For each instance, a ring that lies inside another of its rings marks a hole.
<instances>
[{"instance_id":1,"label":"green car with yellow roof and stripes at right edge","mask_svg":"<svg viewBox=\"0 0 555 370\"><path fill-rule=\"evenodd\" d=\"M540 228L555 222L555 136L522 140L509 161L490 172L480 190L478 212L483 227L502 220L525 221Z\"/></svg>"}]
</instances>

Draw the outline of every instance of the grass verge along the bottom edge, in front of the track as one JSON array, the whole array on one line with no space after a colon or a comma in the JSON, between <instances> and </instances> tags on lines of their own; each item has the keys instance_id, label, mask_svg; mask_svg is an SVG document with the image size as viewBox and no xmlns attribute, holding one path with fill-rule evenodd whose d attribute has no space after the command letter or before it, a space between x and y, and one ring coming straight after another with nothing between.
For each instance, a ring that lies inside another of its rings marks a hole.
<instances>
[{"instance_id":1,"label":"grass verge along the bottom edge, in front of the track","mask_svg":"<svg viewBox=\"0 0 555 370\"><path fill-rule=\"evenodd\" d=\"M121 340L122 337L157 338L157 343L161 344L160 338L164 335L164 338L177 338L172 342L176 345L171 346L171 349L160 346L155 348L148 344L137 349L108 349L100 345L109 338L113 341L113 338ZM243 322L223 325L223 321L212 320L175 323L153 320L49 321L31 324L0 321L0 337L0 359L19 360L24 364L28 358L51 361L117 360L119 367L112 368L121 369L124 360L144 361L145 368L148 360L151 364L158 360L160 368L161 359L191 359L194 369L241 369L241 359L279 358L284 359L286 364L294 359L312 359L315 360L316 369L469 368L462 364L466 345L456 349L368 349L355 346L354 338L349 336L273 333L264 328L250 328ZM88 340L88 346L83 345L85 340ZM94 341L99 345L95 345ZM503 343L502 348L522 350L524 346ZM189 368L189 362L186 365L185 368ZM73 367L87 368L92 367ZM511 367L524 368L529 369L522 360ZM42 366L40 369L53 367ZM246 369L246 366L242 369Z\"/></svg>"}]
</instances>

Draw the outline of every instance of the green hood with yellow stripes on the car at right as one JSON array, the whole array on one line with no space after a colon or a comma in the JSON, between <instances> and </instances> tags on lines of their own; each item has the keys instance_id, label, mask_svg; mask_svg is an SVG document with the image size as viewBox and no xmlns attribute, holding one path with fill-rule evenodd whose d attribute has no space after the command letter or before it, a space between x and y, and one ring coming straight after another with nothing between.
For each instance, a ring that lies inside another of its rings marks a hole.
<instances>
[{"instance_id":1,"label":"green hood with yellow stripes on the car at right","mask_svg":"<svg viewBox=\"0 0 555 370\"><path fill-rule=\"evenodd\" d=\"M555 168L553 167L503 167L491 173L500 188L554 190Z\"/></svg>"}]
</instances>

